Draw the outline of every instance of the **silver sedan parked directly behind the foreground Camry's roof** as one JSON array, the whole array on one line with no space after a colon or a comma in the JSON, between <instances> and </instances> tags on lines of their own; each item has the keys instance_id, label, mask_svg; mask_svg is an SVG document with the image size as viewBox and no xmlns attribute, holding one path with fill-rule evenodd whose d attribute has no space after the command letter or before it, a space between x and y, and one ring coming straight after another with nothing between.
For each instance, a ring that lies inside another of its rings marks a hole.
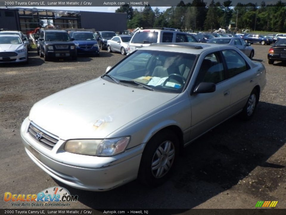
<instances>
[{"instance_id":1,"label":"silver sedan parked directly behind the foreground Camry's roof","mask_svg":"<svg viewBox=\"0 0 286 215\"><path fill-rule=\"evenodd\" d=\"M245 53L251 60L254 56L254 48L250 46L250 44L246 43L241 37L217 37L210 39L208 43L215 44L225 44L237 47L240 51Z\"/></svg>"}]
</instances>

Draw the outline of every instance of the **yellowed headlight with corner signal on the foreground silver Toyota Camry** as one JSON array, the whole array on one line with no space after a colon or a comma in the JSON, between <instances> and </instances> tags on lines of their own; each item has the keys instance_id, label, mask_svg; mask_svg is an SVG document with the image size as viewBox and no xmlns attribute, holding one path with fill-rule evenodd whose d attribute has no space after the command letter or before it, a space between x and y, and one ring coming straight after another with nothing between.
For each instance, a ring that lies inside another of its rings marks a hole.
<instances>
[{"instance_id":1,"label":"yellowed headlight with corner signal on the foreground silver Toyota Camry","mask_svg":"<svg viewBox=\"0 0 286 215\"><path fill-rule=\"evenodd\" d=\"M92 156L114 156L125 151L130 136L111 139L68 140L64 150L75 154Z\"/></svg>"}]
</instances>

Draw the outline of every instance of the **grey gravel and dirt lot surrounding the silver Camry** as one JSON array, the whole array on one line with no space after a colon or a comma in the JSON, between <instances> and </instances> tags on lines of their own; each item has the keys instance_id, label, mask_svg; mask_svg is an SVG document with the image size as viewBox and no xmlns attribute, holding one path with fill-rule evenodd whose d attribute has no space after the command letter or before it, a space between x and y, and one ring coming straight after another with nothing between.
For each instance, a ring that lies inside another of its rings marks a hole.
<instances>
[{"instance_id":1,"label":"grey gravel and dirt lot surrounding the silver Camry","mask_svg":"<svg viewBox=\"0 0 286 215\"><path fill-rule=\"evenodd\" d=\"M124 56L102 51L77 62L45 63L33 51L28 66L0 64L0 194L33 194L60 185L79 196L71 208L255 208L257 201L278 201L276 208L286 208L286 64L268 65L270 46L252 46L268 81L254 118L234 117L196 140L170 180L155 189L137 181L99 193L68 187L38 168L20 140L21 123L35 102L100 76ZM17 207L1 200L0 208Z\"/></svg>"}]
</instances>

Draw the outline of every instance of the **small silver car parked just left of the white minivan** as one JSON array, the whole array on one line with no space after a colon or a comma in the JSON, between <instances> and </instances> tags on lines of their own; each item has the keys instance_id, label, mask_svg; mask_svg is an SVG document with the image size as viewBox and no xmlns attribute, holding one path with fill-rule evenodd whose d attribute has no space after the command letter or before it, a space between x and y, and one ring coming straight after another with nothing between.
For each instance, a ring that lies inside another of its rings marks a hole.
<instances>
[{"instance_id":1,"label":"small silver car parked just left of the white minivan","mask_svg":"<svg viewBox=\"0 0 286 215\"><path fill-rule=\"evenodd\" d=\"M131 38L132 36L124 34L112 37L110 40L107 41L107 51L110 53L113 51L117 51L120 52L122 55L125 55L128 52L128 45Z\"/></svg>"}]
</instances>

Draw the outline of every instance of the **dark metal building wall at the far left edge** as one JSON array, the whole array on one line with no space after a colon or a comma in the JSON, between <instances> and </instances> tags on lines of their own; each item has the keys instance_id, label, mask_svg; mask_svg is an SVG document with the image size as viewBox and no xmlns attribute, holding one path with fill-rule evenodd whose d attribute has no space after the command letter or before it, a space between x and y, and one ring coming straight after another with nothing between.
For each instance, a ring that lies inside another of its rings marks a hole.
<instances>
[{"instance_id":1,"label":"dark metal building wall at the far left edge","mask_svg":"<svg viewBox=\"0 0 286 215\"><path fill-rule=\"evenodd\" d=\"M0 9L0 29L21 30L18 10Z\"/></svg>"}]
</instances>

